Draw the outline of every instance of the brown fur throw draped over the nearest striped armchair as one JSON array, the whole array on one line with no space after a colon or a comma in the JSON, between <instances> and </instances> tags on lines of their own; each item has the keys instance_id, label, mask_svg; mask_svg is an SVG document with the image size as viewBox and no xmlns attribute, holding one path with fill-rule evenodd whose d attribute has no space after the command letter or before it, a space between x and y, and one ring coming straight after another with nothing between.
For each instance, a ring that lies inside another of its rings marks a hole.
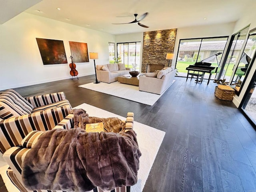
<instances>
[{"instance_id":1,"label":"brown fur throw draped over the nearest striped armchair","mask_svg":"<svg viewBox=\"0 0 256 192\"><path fill-rule=\"evenodd\" d=\"M84 112L80 111L82 121L78 117L77 122L88 122ZM137 182L140 156L134 130L88 133L80 127L53 129L44 132L26 154L22 182L29 190L79 192L95 186L102 190L132 186Z\"/></svg>"}]
</instances>

